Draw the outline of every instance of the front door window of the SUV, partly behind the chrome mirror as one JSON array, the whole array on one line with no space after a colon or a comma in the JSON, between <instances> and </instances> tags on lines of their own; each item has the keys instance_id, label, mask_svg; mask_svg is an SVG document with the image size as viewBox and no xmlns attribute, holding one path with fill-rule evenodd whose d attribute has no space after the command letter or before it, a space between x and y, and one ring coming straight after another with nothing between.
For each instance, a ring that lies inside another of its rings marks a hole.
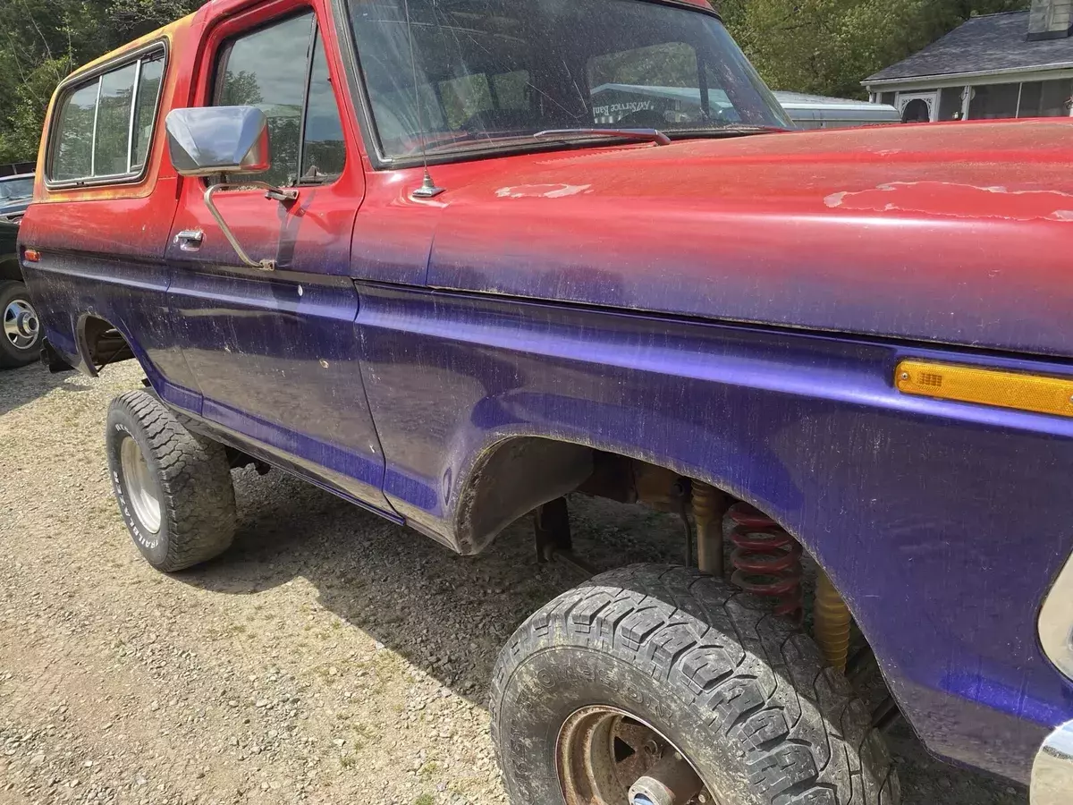
<instances>
[{"instance_id":1,"label":"front door window of the SUV, partly behind the chrome mirror","mask_svg":"<svg viewBox=\"0 0 1073 805\"><path fill-rule=\"evenodd\" d=\"M268 118L271 167L248 178L288 187L342 171L342 121L318 33L308 12L236 36L221 50L214 103L256 106Z\"/></svg>"}]
</instances>

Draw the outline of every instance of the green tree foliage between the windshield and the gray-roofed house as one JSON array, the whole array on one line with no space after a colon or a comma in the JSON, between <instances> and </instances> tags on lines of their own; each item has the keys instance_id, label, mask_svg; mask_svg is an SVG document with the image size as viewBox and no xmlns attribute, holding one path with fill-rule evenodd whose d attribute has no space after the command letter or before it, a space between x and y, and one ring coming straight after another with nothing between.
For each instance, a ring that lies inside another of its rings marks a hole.
<instances>
[{"instance_id":1,"label":"green tree foliage between the windshield and the gray-roofed house","mask_svg":"<svg viewBox=\"0 0 1073 805\"><path fill-rule=\"evenodd\" d=\"M775 89L863 97L861 80L970 16L1029 0L717 0L727 28Z\"/></svg>"}]
</instances>

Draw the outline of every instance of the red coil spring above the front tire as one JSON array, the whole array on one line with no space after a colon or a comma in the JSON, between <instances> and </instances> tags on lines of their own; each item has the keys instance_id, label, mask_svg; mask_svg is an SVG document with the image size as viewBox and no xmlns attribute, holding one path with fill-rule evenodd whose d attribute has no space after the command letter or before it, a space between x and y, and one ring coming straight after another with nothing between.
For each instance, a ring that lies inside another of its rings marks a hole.
<instances>
[{"instance_id":1,"label":"red coil spring above the front tire","mask_svg":"<svg viewBox=\"0 0 1073 805\"><path fill-rule=\"evenodd\" d=\"M802 546L779 524L748 503L726 513L734 543L731 581L758 596L776 599L775 612L797 623L805 613L802 592Z\"/></svg>"}]
</instances>

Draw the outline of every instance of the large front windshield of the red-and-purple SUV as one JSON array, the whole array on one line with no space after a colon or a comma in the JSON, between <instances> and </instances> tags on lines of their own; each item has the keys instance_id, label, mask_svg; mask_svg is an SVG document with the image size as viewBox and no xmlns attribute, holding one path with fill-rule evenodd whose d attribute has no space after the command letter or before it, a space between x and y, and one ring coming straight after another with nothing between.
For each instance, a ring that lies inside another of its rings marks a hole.
<instances>
[{"instance_id":1,"label":"large front windshield of the red-and-purple SUV","mask_svg":"<svg viewBox=\"0 0 1073 805\"><path fill-rule=\"evenodd\" d=\"M384 156L547 129L792 125L712 15L648 0L350 0ZM414 91L414 63L417 80ZM420 97L420 105L417 99Z\"/></svg>"}]
</instances>

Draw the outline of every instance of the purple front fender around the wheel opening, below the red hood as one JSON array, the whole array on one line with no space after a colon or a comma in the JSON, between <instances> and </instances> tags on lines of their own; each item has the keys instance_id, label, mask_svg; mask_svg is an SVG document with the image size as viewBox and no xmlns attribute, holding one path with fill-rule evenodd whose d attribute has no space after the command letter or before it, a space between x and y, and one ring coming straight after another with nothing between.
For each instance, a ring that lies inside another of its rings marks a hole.
<instances>
[{"instance_id":1,"label":"purple front fender around the wheel opening, below the red hood","mask_svg":"<svg viewBox=\"0 0 1073 805\"><path fill-rule=\"evenodd\" d=\"M909 397L906 357L983 355L770 328L359 286L384 492L464 553L489 456L526 437L591 445L760 507L846 596L937 753L1027 780L1073 687L1035 613L1073 548L1073 422ZM988 366L1068 372L986 356ZM540 483L541 479L534 479ZM999 747L1002 747L1001 752Z\"/></svg>"}]
</instances>

